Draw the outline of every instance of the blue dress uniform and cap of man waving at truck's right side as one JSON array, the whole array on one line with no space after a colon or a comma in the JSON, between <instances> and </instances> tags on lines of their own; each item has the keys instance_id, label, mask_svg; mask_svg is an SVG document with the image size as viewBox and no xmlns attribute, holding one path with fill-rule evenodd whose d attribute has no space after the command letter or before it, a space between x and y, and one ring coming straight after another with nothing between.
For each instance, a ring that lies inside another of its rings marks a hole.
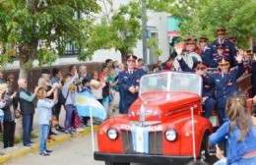
<instances>
[{"instance_id":1,"label":"blue dress uniform and cap of man waving at truck's right side","mask_svg":"<svg viewBox=\"0 0 256 165\"><path fill-rule=\"evenodd\" d=\"M227 59L223 59L223 61L224 63L228 64ZM243 73L244 73L243 63L238 63L236 67L229 69L228 73L226 74L222 72L217 72L211 75L211 77L214 79L216 84L217 109L218 109L220 125L223 125L224 123L225 102L232 93L237 91L236 79L242 76Z\"/></svg>"}]
</instances>

